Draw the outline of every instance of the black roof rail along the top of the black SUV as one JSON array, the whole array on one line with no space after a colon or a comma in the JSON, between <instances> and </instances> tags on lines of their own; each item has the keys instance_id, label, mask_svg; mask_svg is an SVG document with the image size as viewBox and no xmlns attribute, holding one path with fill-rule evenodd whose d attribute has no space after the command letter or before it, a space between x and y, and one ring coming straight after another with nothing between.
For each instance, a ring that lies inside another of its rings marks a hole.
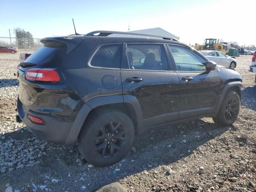
<instances>
[{"instance_id":1,"label":"black roof rail along the top of the black SUV","mask_svg":"<svg viewBox=\"0 0 256 192\"><path fill-rule=\"evenodd\" d=\"M95 35L95 34L97 34L97 35ZM131 33L131 32L120 32L120 31L93 31L93 32L90 32L90 33L86 34L85 36L109 36L111 34L125 34L125 35L139 35L139 36L159 37L159 38L163 38L163 39L166 39L166 40L179 41L175 38L170 38L170 37L166 37L166 36L142 34L142 33Z\"/></svg>"}]
</instances>

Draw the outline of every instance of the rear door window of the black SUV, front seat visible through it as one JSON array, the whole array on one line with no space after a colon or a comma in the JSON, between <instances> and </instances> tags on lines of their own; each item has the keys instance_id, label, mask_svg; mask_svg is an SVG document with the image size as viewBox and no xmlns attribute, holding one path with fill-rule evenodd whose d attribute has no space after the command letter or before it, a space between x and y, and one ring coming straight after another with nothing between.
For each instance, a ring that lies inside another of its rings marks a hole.
<instances>
[{"instance_id":1,"label":"rear door window of the black SUV, front seat visible through it","mask_svg":"<svg viewBox=\"0 0 256 192\"><path fill-rule=\"evenodd\" d=\"M127 44L126 55L130 69L168 70L162 44Z\"/></svg>"}]
</instances>

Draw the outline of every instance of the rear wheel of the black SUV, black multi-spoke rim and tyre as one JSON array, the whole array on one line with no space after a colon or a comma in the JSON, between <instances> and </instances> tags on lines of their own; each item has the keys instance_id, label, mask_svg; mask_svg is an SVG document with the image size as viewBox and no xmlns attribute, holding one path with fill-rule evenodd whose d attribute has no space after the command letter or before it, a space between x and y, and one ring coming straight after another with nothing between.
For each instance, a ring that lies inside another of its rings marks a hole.
<instances>
[{"instance_id":1,"label":"rear wheel of the black SUV, black multi-spoke rim and tyre","mask_svg":"<svg viewBox=\"0 0 256 192\"><path fill-rule=\"evenodd\" d=\"M101 110L90 115L78 136L82 156L97 167L110 166L130 151L134 141L134 125L119 110Z\"/></svg>"}]
</instances>

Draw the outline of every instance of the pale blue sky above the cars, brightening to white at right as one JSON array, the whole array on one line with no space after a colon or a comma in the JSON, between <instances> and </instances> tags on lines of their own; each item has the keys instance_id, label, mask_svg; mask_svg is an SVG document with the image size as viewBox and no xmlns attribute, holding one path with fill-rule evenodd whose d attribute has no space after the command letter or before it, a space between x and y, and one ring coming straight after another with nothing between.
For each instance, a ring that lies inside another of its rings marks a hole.
<instances>
[{"instance_id":1,"label":"pale blue sky above the cars, brightening to white at right","mask_svg":"<svg viewBox=\"0 0 256 192\"><path fill-rule=\"evenodd\" d=\"M130 30L161 27L187 44L205 38L256 44L256 0L0 0L0 10L0 36L16 27L34 38L73 34L74 18L82 34L127 31L130 24Z\"/></svg>"}]
</instances>

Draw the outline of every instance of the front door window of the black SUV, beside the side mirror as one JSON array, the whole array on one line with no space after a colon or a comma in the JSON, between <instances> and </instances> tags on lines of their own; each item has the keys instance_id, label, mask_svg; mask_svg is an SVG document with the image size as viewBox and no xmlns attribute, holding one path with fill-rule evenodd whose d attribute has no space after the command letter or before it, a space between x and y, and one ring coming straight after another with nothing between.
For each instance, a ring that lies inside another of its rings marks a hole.
<instances>
[{"instance_id":1,"label":"front door window of the black SUV, beside the side mirror","mask_svg":"<svg viewBox=\"0 0 256 192\"><path fill-rule=\"evenodd\" d=\"M178 71L205 71L206 61L192 50L169 45Z\"/></svg>"}]
</instances>

